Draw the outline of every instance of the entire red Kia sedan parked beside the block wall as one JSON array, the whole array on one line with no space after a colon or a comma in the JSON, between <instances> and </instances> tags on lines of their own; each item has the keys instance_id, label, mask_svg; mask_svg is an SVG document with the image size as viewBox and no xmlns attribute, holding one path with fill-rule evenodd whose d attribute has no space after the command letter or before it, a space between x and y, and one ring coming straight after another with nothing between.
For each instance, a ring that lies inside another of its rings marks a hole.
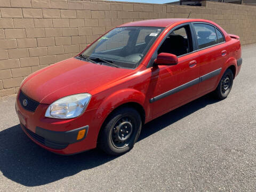
<instances>
[{"instance_id":1,"label":"entire red Kia sedan parked beside the block wall","mask_svg":"<svg viewBox=\"0 0 256 192\"><path fill-rule=\"evenodd\" d=\"M130 22L29 75L15 106L22 130L53 153L119 155L152 119L209 92L225 99L241 64L239 37L212 21Z\"/></svg>"}]
</instances>

